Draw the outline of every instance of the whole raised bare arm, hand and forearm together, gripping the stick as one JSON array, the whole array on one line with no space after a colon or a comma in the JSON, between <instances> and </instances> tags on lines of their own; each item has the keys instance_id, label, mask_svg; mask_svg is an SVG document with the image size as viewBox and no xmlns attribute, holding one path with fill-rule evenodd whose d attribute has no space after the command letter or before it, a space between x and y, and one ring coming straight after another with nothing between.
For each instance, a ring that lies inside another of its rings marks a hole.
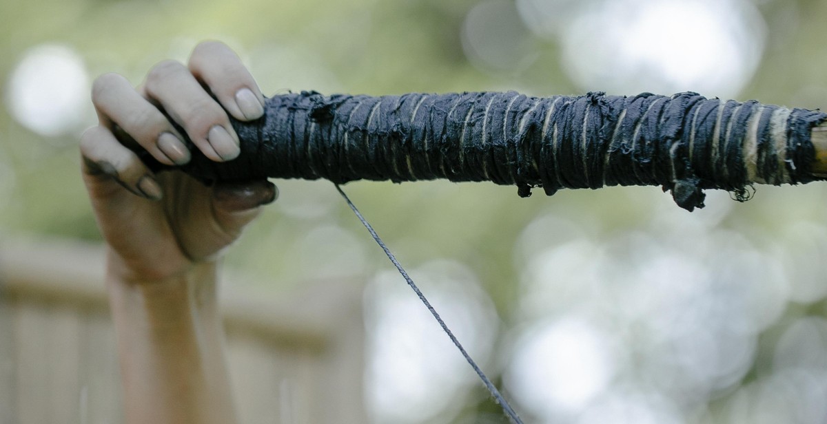
<instances>
[{"instance_id":1,"label":"whole raised bare arm, hand and forearm together, gripping the stick","mask_svg":"<svg viewBox=\"0 0 827 424\"><path fill-rule=\"evenodd\" d=\"M190 152L164 110L208 158L232 160L240 150L227 113L241 121L261 117L261 90L238 56L213 41L196 46L187 64L155 65L138 88L104 74L92 98L99 123L81 136L80 151L108 244L127 422L237 422L217 306L218 260L277 191L267 181L206 187L179 171L153 174L127 145L163 164L187 163Z\"/></svg>"}]
</instances>

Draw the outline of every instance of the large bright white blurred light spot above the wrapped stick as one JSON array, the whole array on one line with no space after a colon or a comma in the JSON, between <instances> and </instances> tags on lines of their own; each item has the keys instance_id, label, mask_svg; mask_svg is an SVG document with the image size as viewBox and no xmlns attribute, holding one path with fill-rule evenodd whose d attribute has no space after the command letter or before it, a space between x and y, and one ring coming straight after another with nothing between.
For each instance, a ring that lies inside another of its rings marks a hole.
<instances>
[{"instance_id":1,"label":"large bright white blurred light spot above the wrapped stick","mask_svg":"<svg viewBox=\"0 0 827 424\"><path fill-rule=\"evenodd\" d=\"M562 34L569 76L614 93L696 91L734 97L763 50L764 23L739 0L619 0Z\"/></svg>"}]
</instances>

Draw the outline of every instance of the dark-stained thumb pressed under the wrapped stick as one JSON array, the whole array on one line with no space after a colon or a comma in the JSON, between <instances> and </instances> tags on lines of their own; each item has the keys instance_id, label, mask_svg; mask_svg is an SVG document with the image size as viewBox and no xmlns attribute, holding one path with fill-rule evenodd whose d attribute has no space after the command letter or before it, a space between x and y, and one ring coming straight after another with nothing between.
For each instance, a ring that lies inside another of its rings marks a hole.
<instances>
[{"instance_id":1,"label":"dark-stained thumb pressed under the wrapped stick","mask_svg":"<svg viewBox=\"0 0 827 424\"><path fill-rule=\"evenodd\" d=\"M261 205L275 201L279 189L266 179L213 186L213 213L227 234L237 236L261 212Z\"/></svg>"}]
</instances>

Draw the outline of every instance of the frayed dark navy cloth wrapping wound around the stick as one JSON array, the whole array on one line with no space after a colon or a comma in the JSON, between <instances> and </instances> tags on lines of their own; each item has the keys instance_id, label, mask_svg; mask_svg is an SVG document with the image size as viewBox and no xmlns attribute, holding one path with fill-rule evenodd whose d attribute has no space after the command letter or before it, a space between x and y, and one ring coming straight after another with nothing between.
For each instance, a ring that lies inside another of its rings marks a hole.
<instances>
[{"instance_id":1,"label":"frayed dark navy cloth wrapping wound around the stick","mask_svg":"<svg viewBox=\"0 0 827 424\"><path fill-rule=\"evenodd\" d=\"M688 210L705 188L748 198L753 183L809 183L810 131L822 112L707 99L697 93L532 98L519 93L267 99L265 116L232 121L241 155L181 167L203 181L423 179L560 188L659 185ZM147 163L151 157L144 155ZM159 164L152 164L155 169Z\"/></svg>"}]
</instances>

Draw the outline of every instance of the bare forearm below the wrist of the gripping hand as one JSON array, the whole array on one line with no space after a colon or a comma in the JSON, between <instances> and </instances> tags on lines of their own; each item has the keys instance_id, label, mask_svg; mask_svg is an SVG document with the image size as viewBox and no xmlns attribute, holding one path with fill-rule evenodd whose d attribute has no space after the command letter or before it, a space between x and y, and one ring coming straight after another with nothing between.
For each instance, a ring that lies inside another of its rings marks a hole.
<instances>
[{"instance_id":1,"label":"bare forearm below the wrist of the gripping hand","mask_svg":"<svg viewBox=\"0 0 827 424\"><path fill-rule=\"evenodd\" d=\"M119 266L110 255L107 285L127 422L236 422L215 264L164 282L127 281Z\"/></svg>"}]
</instances>

